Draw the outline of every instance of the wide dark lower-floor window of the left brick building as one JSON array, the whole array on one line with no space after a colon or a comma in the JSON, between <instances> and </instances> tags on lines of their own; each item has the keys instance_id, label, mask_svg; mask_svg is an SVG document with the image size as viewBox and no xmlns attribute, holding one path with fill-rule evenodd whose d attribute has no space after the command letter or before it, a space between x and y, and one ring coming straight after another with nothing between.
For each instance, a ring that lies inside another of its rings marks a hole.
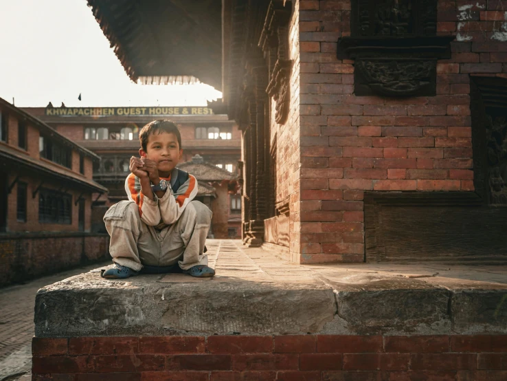
<instances>
[{"instance_id":1,"label":"wide dark lower-floor window of the left brick building","mask_svg":"<svg viewBox=\"0 0 507 381\"><path fill-rule=\"evenodd\" d=\"M72 223L72 195L54 189L38 192L38 221L41 224Z\"/></svg>"}]
</instances>

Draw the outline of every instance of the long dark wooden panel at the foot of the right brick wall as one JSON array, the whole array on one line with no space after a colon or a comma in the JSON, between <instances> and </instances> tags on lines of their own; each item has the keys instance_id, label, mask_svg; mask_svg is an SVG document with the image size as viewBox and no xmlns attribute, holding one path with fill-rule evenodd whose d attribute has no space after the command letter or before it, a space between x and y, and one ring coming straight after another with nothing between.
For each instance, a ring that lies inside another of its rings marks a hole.
<instances>
[{"instance_id":1,"label":"long dark wooden panel at the foot of the right brick wall","mask_svg":"<svg viewBox=\"0 0 507 381\"><path fill-rule=\"evenodd\" d=\"M367 262L507 261L505 208L473 193L365 194Z\"/></svg>"}]
</instances>

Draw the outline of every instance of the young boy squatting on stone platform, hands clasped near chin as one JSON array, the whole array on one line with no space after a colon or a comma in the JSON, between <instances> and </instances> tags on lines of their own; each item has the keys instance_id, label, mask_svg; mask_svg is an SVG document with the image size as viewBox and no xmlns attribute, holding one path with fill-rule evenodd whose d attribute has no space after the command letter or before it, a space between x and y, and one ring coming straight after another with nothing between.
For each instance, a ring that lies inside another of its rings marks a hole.
<instances>
[{"instance_id":1,"label":"young boy squatting on stone platform, hands clasped near chin","mask_svg":"<svg viewBox=\"0 0 507 381\"><path fill-rule=\"evenodd\" d=\"M177 125L155 120L142 128L139 140L141 157L131 157L125 181L128 201L111 206L104 215L115 267L102 276L124 279L141 270L179 269L192 276L213 276L203 254L212 213L192 201L195 177L176 168L183 154Z\"/></svg>"}]
</instances>

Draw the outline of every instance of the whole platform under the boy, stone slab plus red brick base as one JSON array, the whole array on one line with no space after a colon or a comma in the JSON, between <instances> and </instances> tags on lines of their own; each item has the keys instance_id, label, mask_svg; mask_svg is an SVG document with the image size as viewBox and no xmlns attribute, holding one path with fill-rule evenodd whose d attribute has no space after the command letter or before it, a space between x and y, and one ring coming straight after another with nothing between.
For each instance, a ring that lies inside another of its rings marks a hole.
<instances>
[{"instance_id":1,"label":"whole platform under the boy, stone slab plus red brick base","mask_svg":"<svg viewBox=\"0 0 507 381\"><path fill-rule=\"evenodd\" d=\"M207 241L213 279L100 278L36 298L34 380L506 380L507 269L294 265Z\"/></svg>"}]
</instances>

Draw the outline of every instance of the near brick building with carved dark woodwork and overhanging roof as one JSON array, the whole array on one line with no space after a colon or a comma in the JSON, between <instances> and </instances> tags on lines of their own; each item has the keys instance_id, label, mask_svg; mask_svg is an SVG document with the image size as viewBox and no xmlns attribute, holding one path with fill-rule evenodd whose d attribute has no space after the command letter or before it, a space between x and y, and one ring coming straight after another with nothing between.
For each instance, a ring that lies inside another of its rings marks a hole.
<instances>
[{"instance_id":1,"label":"near brick building with carved dark woodwork and overhanging roof","mask_svg":"<svg viewBox=\"0 0 507 381\"><path fill-rule=\"evenodd\" d=\"M167 45L125 2L89 5L133 80L221 87L245 243L300 263L506 258L506 1L197 1L179 17L205 26L160 26Z\"/></svg>"}]
</instances>

